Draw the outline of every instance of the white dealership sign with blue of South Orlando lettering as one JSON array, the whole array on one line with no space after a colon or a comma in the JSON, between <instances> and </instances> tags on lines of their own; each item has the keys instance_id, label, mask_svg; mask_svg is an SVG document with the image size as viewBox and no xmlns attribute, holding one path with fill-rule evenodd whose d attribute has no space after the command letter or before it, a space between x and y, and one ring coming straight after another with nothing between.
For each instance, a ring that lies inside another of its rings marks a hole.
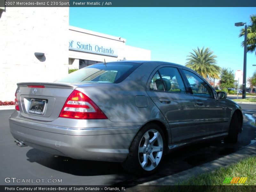
<instances>
[{"instance_id":1,"label":"white dealership sign with blue of South Orlando lettering","mask_svg":"<svg viewBox=\"0 0 256 192\"><path fill-rule=\"evenodd\" d=\"M85 43L81 41L74 41L74 40L69 41L68 49L73 51L82 51L82 52L117 57L117 49L114 49L113 47L95 45L95 44Z\"/></svg>"}]
</instances>

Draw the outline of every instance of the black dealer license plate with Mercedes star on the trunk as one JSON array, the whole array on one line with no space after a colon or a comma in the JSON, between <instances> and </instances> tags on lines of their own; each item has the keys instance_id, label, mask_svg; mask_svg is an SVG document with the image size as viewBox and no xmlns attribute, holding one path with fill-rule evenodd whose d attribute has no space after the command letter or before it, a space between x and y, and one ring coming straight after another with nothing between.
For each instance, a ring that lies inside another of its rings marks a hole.
<instances>
[{"instance_id":1,"label":"black dealer license plate with Mercedes star on the trunk","mask_svg":"<svg viewBox=\"0 0 256 192\"><path fill-rule=\"evenodd\" d=\"M31 99L28 113L44 115L46 102L44 99Z\"/></svg>"}]
</instances>

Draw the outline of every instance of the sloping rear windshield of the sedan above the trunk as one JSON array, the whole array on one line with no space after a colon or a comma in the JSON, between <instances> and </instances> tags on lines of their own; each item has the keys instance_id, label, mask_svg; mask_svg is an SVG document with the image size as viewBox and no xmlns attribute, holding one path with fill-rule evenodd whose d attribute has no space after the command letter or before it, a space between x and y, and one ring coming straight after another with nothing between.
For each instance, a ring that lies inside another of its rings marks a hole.
<instances>
[{"instance_id":1,"label":"sloping rear windshield of the sedan above the trunk","mask_svg":"<svg viewBox=\"0 0 256 192\"><path fill-rule=\"evenodd\" d=\"M139 66L138 63L98 63L74 71L56 82L120 83Z\"/></svg>"}]
</instances>

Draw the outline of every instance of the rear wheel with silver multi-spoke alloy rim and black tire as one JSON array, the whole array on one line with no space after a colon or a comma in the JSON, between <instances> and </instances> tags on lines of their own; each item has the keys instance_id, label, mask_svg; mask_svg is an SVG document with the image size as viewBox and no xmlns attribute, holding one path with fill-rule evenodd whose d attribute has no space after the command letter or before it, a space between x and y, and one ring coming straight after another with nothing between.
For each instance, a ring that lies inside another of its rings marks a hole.
<instances>
[{"instance_id":1,"label":"rear wheel with silver multi-spoke alloy rim and black tire","mask_svg":"<svg viewBox=\"0 0 256 192\"><path fill-rule=\"evenodd\" d=\"M159 134L158 134L158 133ZM148 133L148 134L147 134ZM145 137L149 136L148 142L146 141ZM156 141L153 141L153 137L155 138L157 135ZM163 142L161 142L161 139ZM146 145L145 143L148 143ZM123 168L130 173L136 175L150 175L156 172L159 168L159 165L162 162L165 153L165 137L164 132L160 128L159 125L155 123L146 124L144 127L140 129L137 135L134 137L132 144L129 148L129 155L124 162L122 162ZM148 147L145 147L148 146ZM140 152L139 152L140 148ZM157 149L157 151L155 151ZM162 148L162 149L161 149ZM143 150L143 152L141 152ZM161 151L162 150L162 151ZM162 154L161 154L162 152ZM151 156L152 155L152 156ZM146 157L146 161L145 161ZM153 159L154 157L154 159ZM152 163L155 160L155 163ZM144 168L142 168L142 164L144 164ZM151 170L152 169L152 170Z\"/></svg>"}]
</instances>

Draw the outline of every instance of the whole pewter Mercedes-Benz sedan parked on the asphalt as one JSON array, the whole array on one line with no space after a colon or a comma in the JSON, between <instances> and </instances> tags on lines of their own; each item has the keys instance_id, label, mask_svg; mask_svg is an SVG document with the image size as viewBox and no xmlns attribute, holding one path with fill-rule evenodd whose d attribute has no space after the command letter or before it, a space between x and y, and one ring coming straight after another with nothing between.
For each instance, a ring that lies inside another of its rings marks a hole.
<instances>
[{"instance_id":1,"label":"whole pewter Mercedes-Benz sedan parked on the asphalt","mask_svg":"<svg viewBox=\"0 0 256 192\"><path fill-rule=\"evenodd\" d=\"M98 63L54 83L18 83L10 130L19 146L75 159L156 171L173 148L210 139L236 142L238 104L181 65Z\"/></svg>"}]
</instances>

